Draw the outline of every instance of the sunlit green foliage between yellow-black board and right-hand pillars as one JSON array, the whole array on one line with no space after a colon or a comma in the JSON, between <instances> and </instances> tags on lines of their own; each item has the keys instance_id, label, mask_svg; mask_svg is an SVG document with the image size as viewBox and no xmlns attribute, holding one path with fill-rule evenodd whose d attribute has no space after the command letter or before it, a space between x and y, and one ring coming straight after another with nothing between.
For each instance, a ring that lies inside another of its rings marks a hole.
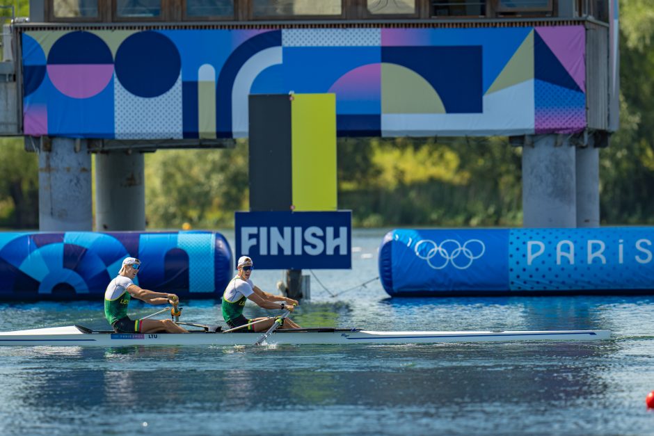
<instances>
[{"instance_id":1,"label":"sunlit green foliage between yellow-black board and right-hand pillars","mask_svg":"<svg viewBox=\"0 0 654 436\"><path fill-rule=\"evenodd\" d=\"M354 225L520 225L520 150L506 139L360 142L369 162L350 173L339 143L339 207L353 211Z\"/></svg>"}]
</instances>

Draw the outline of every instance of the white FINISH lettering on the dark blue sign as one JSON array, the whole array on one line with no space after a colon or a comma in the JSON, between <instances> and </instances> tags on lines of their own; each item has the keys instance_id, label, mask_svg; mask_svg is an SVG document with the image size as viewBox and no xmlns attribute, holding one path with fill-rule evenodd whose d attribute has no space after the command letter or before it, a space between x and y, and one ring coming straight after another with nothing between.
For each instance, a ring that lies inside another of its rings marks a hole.
<instances>
[{"instance_id":1,"label":"white FINISH lettering on the dark blue sign","mask_svg":"<svg viewBox=\"0 0 654 436\"><path fill-rule=\"evenodd\" d=\"M241 227L241 253L248 255L347 254L347 227ZM258 252L250 248L258 248Z\"/></svg>"}]
</instances>

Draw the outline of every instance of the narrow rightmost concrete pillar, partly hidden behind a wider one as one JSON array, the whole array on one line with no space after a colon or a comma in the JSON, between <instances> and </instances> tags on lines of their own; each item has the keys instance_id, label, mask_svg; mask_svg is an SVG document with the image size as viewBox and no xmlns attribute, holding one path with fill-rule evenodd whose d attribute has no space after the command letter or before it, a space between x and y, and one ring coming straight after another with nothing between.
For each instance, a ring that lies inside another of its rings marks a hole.
<instances>
[{"instance_id":1,"label":"narrow rightmost concrete pillar, partly hidden behind a wider one","mask_svg":"<svg viewBox=\"0 0 654 436\"><path fill-rule=\"evenodd\" d=\"M577 147L577 227L600 227L600 150Z\"/></svg>"}]
</instances>

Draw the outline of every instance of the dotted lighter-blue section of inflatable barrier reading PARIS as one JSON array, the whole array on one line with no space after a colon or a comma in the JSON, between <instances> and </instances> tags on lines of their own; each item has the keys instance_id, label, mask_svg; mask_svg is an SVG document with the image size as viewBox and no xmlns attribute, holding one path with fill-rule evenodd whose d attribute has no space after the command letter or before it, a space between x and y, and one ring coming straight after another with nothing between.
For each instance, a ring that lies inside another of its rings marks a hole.
<instances>
[{"instance_id":1,"label":"dotted lighter-blue section of inflatable barrier reading PARIS","mask_svg":"<svg viewBox=\"0 0 654 436\"><path fill-rule=\"evenodd\" d=\"M513 229L512 291L652 289L654 229Z\"/></svg>"}]
</instances>

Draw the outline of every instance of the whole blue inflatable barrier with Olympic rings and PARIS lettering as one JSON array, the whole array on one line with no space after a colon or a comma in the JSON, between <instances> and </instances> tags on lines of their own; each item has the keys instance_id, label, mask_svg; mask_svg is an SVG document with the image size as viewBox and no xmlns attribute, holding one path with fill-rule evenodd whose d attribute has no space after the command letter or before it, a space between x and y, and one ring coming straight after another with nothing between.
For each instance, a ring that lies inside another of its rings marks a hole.
<instances>
[{"instance_id":1,"label":"whole blue inflatable barrier with Olympic rings and PARIS lettering","mask_svg":"<svg viewBox=\"0 0 654 436\"><path fill-rule=\"evenodd\" d=\"M390 296L654 293L654 228L396 229L379 250Z\"/></svg>"}]
</instances>

